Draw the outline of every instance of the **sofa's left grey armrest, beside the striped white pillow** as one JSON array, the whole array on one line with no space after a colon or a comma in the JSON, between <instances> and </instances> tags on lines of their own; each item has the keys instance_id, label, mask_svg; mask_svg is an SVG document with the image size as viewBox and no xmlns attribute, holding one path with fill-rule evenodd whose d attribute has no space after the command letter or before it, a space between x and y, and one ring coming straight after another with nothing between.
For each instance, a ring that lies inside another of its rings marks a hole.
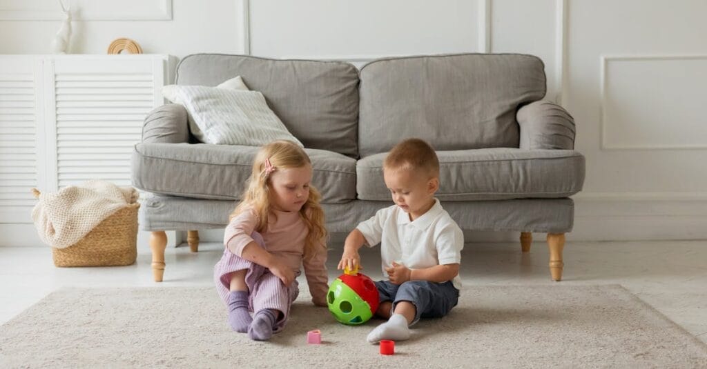
<instances>
[{"instance_id":1,"label":"sofa's left grey armrest, beside the striped white pillow","mask_svg":"<svg viewBox=\"0 0 707 369\"><path fill-rule=\"evenodd\" d=\"M189 142L189 123L185 107L166 104L149 112L142 126L142 141L165 144Z\"/></svg>"}]
</instances>

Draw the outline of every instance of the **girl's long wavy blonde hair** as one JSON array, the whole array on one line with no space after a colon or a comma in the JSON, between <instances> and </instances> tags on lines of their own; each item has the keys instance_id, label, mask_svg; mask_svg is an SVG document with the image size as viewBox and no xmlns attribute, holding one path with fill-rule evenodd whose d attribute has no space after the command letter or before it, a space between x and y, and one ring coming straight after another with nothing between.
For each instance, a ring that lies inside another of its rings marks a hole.
<instances>
[{"instance_id":1,"label":"girl's long wavy blonde hair","mask_svg":"<svg viewBox=\"0 0 707 369\"><path fill-rule=\"evenodd\" d=\"M269 160L270 165L275 170L302 168L305 165L312 165L307 153L292 141L273 141L260 148L253 161L252 173L241 197L240 204L235 207L235 210L228 217L230 221L238 214L243 213L245 209L254 209L258 216L258 223L255 225L255 230L258 233L267 231L269 220L271 172L266 170L266 160ZM322 211L322 206L319 204L321 198L319 191L310 184L309 198L300 209L300 216L309 230L305 239L305 255L314 251L314 247L317 247L317 245L326 247L322 243L322 240L327 237L327 229L324 227L324 211Z\"/></svg>"}]
</instances>

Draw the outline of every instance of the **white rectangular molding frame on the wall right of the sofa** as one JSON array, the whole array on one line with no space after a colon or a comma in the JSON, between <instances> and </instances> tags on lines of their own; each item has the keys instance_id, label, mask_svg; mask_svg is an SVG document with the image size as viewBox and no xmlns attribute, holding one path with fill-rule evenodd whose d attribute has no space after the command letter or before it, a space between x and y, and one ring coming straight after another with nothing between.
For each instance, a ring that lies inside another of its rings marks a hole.
<instances>
[{"instance_id":1,"label":"white rectangular molding frame on the wall right of the sofa","mask_svg":"<svg viewBox=\"0 0 707 369\"><path fill-rule=\"evenodd\" d=\"M634 150L695 150L707 148L707 144L698 145L614 145L607 144L607 64L612 60L694 60L705 59L707 54L602 54L599 57L600 83L600 150L602 151L634 151Z\"/></svg>"}]
</instances>

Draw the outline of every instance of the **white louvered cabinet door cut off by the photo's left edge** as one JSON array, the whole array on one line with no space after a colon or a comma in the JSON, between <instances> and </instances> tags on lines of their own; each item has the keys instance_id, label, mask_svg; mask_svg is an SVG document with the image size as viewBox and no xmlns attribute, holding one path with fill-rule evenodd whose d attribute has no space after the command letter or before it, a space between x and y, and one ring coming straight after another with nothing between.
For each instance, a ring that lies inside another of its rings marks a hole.
<instances>
[{"instance_id":1,"label":"white louvered cabinet door cut off by the photo's left edge","mask_svg":"<svg viewBox=\"0 0 707 369\"><path fill-rule=\"evenodd\" d=\"M38 60L0 59L0 223L31 223L30 190L46 180Z\"/></svg>"}]
</instances>

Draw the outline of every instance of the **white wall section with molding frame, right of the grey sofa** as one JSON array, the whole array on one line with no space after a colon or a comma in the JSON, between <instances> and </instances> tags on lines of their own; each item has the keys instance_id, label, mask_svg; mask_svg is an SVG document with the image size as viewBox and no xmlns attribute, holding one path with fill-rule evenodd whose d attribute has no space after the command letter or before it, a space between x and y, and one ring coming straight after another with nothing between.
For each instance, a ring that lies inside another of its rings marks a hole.
<instances>
[{"instance_id":1,"label":"white wall section with molding frame, right of the grey sofa","mask_svg":"<svg viewBox=\"0 0 707 369\"><path fill-rule=\"evenodd\" d=\"M575 221L585 237L707 237L706 11L700 0L569 1L566 106L587 157Z\"/></svg>"}]
</instances>

